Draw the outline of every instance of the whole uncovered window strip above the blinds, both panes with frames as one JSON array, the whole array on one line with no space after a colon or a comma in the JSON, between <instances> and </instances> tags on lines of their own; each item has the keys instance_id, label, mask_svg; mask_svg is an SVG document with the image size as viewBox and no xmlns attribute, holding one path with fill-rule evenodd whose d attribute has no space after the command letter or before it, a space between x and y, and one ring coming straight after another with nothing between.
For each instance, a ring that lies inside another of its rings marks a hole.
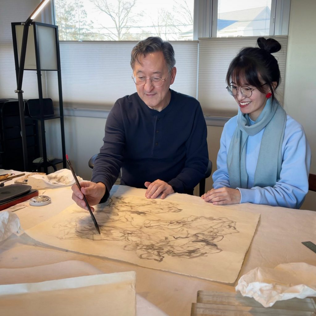
<instances>
[{"instance_id":1,"label":"whole uncovered window strip above the blinds, both panes with frames","mask_svg":"<svg viewBox=\"0 0 316 316\"><path fill-rule=\"evenodd\" d=\"M55 0L59 40L287 35L290 0Z\"/></svg>"}]
</instances>

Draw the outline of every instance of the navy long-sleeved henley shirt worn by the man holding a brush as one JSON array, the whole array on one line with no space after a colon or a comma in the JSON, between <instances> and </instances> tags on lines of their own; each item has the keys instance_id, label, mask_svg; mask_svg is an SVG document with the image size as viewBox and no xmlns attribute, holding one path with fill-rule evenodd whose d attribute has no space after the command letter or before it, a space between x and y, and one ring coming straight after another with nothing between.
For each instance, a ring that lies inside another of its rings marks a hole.
<instances>
[{"instance_id":1,"label":"navy long-sleeved henley shirt worn by the man holding a brush","mask_svg":"<svg viewBox=\"0 0 316 316\"><path fill-rule=\"evenodd\" d=\"M150 109L137 93L117 100L105 125L92 182L106 186L104 202L122 168L121 184L145 188L163 180L178 193L192 194L208 165L207 129L200 103L171 90L161 112Z\"/></svg>"}]
</instances>

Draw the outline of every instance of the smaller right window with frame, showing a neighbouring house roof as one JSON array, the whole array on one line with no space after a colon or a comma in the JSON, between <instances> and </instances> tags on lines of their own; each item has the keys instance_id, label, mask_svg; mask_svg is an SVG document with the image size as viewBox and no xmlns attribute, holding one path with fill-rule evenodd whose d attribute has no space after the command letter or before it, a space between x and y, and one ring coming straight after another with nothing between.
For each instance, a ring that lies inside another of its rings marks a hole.
<instances>
[{"instance_id":1,"label":"smaller right window with frame, showing a neighbouring house roof","mask_svg":"<svg viewBox=\"0 0 316 316\"><path fill-rule=\"evenodd\" d=\"M287 35L290 0L194 2L193 39Z\"/></svg>"}]
</instances>

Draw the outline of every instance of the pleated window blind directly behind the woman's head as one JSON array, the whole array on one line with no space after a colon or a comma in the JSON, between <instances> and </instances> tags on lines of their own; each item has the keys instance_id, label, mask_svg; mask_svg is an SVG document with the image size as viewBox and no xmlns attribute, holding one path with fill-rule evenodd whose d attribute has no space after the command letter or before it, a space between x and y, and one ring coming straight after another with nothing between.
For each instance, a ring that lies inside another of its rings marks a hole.
<instances>
[{"instance_id":1,"label":"pleated window blind directly behind the woman's head","mask_svg":"<svg viewBox=\"0 0 316 316\"><path fill-rule=\"evenodd\" d=\"M276 89L276 98L283 105L287 36L270 36L282 46L279 52L273 53L278 61L281 83ZM238 107L234 98L228 94L225 82L231 60L246 46L254 47L258 37L244 38L208 38L199 39L198 56L198 92L204 115L232 117Z\"/></svg>"}]
</instances>

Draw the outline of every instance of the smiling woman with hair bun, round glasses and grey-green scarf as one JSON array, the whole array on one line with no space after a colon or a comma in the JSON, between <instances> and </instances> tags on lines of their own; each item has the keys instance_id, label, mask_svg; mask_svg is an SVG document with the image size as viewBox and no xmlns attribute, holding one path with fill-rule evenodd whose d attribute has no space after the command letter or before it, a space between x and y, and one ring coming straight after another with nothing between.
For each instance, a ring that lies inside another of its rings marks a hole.
<instances>
[{"instance_id":1,"label":"smiling woman with hair bun, round glasses and grey-green scarf","mask_svg":"<svg viewBox=\"0 0 316 316\"><path fill-rule=\"evenodd\" d=\"M202 198L215 205L250 202L298 209L308 191L311 150L303 127L275 98L280 70L271 53L281 45L263 37L257 44L243 48L228 68L227 90L239 110L224 126L214 189Z\"/></svg>"}]
</instances>

